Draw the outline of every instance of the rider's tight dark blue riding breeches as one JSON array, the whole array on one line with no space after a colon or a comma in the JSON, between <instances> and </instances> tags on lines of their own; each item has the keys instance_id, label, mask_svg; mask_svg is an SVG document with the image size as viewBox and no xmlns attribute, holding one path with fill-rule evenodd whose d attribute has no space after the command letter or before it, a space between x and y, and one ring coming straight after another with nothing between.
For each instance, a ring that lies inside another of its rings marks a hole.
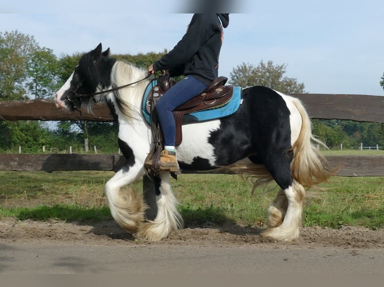
<instances>
[{"instance_id":1,"label":"rider's tight dark blue riding breeches","mask_svg":"<svg viewBox=\"0 0 384 287\"><path fill-rule=\"evenodd\" d=\"M155 109L164 137L164 145L175 143L176 124L172 111L179 105L202 93L207 85L193 76L187 76L168 89L156 102Z\"/></svg>"}]
</instances>

